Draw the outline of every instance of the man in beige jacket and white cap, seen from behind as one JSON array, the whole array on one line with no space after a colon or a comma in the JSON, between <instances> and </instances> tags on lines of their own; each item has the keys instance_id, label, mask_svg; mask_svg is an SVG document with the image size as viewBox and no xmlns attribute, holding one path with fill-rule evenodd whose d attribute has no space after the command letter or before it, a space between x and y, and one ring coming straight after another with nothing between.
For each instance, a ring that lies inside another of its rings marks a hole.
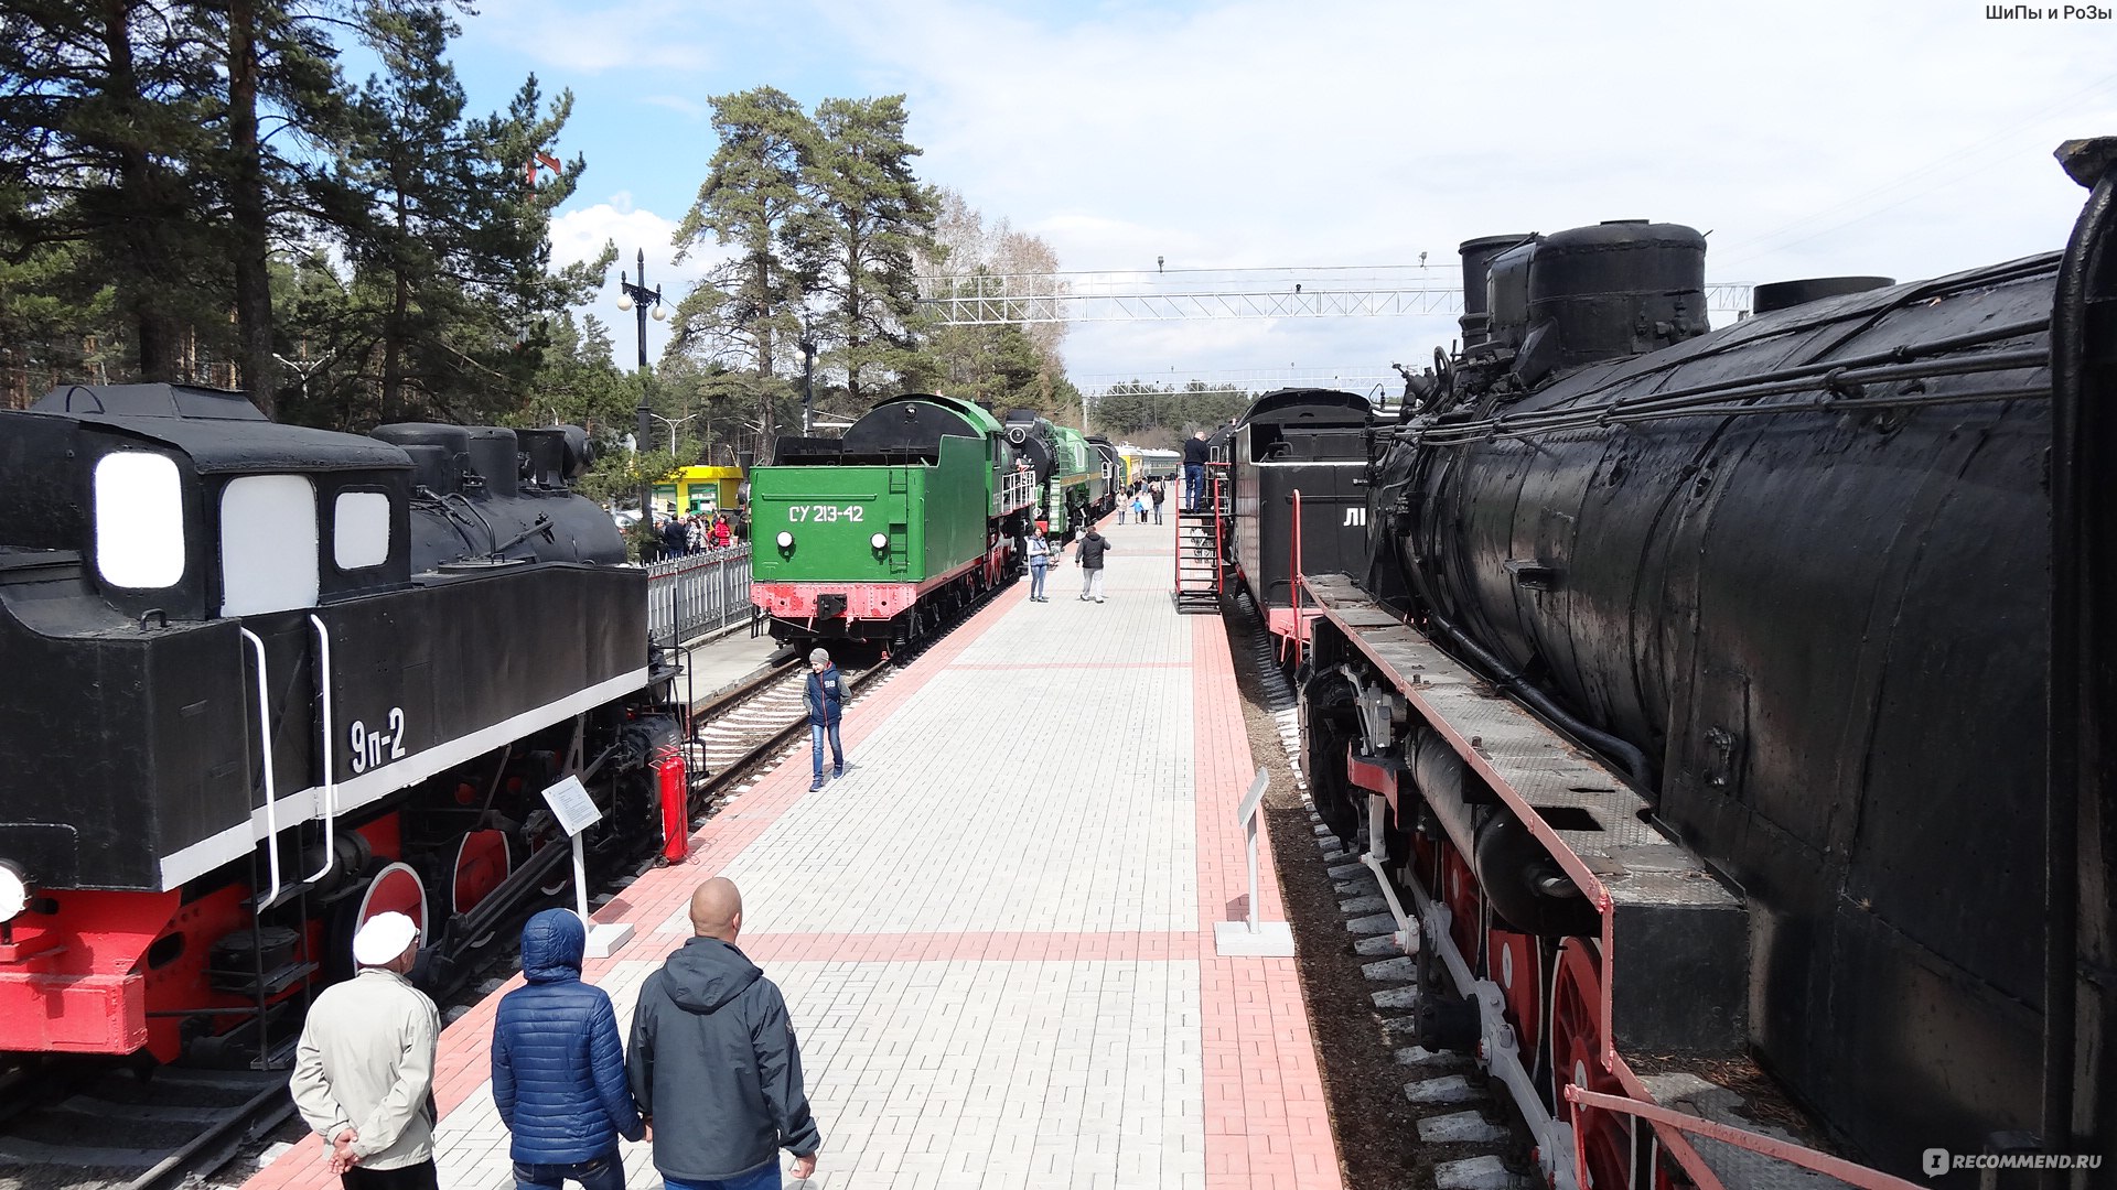
<instances>
[{"instance_id":1,"label":"man in beige jacket and white cap, seen from behind","mask_svg":"<svg viewBox=\"0 0 2117 1190\"><path fill-rule=\"evenodd\" d=\"M434 1044L440 1016L406 974L419 927L377 913L354 934L360 974L326 987L294 1048L288 1090L345 1190L438 1190Z\"/></svg>"}]
</instances>

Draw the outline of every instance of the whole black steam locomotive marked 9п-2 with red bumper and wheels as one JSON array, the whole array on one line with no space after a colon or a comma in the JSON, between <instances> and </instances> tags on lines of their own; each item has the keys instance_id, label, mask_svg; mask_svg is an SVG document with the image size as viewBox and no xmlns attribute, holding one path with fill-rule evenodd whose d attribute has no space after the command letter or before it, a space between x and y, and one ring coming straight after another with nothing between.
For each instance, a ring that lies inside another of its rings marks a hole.
<instances>
[{"instance_id":1,"label":"whole black steam locomotive marked 9\u043f-2 with red bumper and wheels","mask_svg":"<svg viewBox=\"0 0 2117 1190\"><path fill-rule=\"evenodd\" d=\"M0 413L0 1048L252 1038L373 913L449 982L593 862L682 841L646 574L576 428L267 421L61 387Z\"/></svg>"}]
</instances>

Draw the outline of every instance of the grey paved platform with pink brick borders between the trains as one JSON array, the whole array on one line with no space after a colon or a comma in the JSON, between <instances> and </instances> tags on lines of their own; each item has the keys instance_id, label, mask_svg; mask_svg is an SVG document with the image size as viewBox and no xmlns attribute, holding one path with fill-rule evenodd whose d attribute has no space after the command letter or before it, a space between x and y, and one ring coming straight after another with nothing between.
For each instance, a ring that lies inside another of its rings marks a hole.
<instances>
[{"instance_id":1,"label":"grey paved platform with pink brick borders between the trains","mask_svg":"<svg viewBox=\"0 0 2117 1190\"><path fill-rule=\"evenodd\" d=\"M847 711L843 779L811 794L800 745L597 913L637 923L589 966L629 1023L690 889L741 885L824 1131L809 1186L1340 1184L1293 959L1213 953L1245 913L1253 764L1219 620L1169 597L1173 521L1107 527L1107 603L1071 557L1050 603L997 597ZM442 1033L442 1186L510 1186L495 1002ZM648 1148L629 1186L658 1186ZM309 1137L250 1190L324 1184Z\"/></svg>"}]
</instances>

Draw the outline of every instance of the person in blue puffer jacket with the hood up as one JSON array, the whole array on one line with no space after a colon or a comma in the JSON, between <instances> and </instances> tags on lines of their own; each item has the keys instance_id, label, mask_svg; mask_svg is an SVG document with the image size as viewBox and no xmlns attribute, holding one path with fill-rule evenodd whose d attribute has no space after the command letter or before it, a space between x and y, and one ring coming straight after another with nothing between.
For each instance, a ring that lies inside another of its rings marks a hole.
<instances>
[{"instance_id":1,"label":"person in blue puffer jacket with the hood up","mask_svg":"<svg viewBox=\"0 0 2117 1190\"><path fill-rule=\"evenodd\" d=\"M514 1133L519 1190L625 1190L618 1137L646 1122L625 1082L625 1042L610 997L580 982L589 932L572 908L523 925L523 978L493 1018L493 1105Z\"/></svg>"}]
</instances>

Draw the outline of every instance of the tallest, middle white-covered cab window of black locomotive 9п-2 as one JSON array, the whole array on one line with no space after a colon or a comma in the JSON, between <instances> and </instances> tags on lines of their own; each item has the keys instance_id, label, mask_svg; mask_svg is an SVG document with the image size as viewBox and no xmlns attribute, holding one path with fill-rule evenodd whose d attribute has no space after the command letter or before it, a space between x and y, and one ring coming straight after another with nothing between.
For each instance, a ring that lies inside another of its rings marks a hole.
<instances>
[{"instance_id":1,"label":"tallest, middle white-covered cab window of black locomotive 9\u043f-2","mask_svg":"<svg viewBox=\"0 0 2117 1190\"><path fill-rule=\"evenodd\" d=\"M220 614L313 608L315 485L298 474L246 474L220 491Z\"/></svg>"}]
</instances>

